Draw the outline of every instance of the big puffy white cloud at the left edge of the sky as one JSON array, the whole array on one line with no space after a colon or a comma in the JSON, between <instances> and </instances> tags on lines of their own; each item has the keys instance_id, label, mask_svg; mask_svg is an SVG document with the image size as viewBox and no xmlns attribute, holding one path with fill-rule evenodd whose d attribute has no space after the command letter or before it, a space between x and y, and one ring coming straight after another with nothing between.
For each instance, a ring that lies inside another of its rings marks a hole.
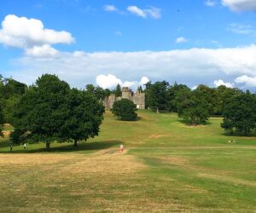
<instances>
[{"instance_id":1,"label":"big puffy white cloud at the left edge of the sky","mask_svg":"<svg viewBox=\"0 0 256 213\"><path fill-rule=\"evenodd\" d=\"M31 48L44 44L73 43L74 38L69 32L56 32L44 28L41 20L7 15L0 29L0 43L17 48Z\"/></svg>"}]
</instances>

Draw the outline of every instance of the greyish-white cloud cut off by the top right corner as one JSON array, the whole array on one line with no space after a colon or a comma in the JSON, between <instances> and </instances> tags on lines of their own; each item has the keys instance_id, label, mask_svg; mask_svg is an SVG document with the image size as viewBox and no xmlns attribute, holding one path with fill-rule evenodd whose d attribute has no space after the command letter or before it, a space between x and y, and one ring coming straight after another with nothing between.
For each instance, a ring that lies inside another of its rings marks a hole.
<instances>
[{"instance_id":1,"label":"greyish-white cloud cut off by the top right corner","mask_svg":"<svg viewBox=\"0 0 256 213\"><path fill-rule=\"evenodd\" d=\"M233 11L255 11L255 0L222 0L224 6L229 7Z\"/></svg>"}]
</instances>

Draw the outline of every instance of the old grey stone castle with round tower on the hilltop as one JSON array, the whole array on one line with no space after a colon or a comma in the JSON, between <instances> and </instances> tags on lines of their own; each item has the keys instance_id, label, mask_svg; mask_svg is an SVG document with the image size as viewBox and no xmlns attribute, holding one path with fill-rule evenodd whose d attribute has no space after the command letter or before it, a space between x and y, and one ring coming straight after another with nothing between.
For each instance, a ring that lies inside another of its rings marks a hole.
<instances>
[{"instance_id":1,"label":"old grey stone castle with round tower on the hilltop","mask_svg":"<svg viewBox=\"0 0 256 213\"><path fill-rule=\"evenodd\" d=\"M122 89L121 97L116 97L114 94L109 95L104 101L104 106L106 109L111 109L115 101L123 98L132 101L137 106L137 109L145 109L145 93L140 92L139 89L137 89L136 93L133 93L128 87Z\"/></svg>"}]
</instances>

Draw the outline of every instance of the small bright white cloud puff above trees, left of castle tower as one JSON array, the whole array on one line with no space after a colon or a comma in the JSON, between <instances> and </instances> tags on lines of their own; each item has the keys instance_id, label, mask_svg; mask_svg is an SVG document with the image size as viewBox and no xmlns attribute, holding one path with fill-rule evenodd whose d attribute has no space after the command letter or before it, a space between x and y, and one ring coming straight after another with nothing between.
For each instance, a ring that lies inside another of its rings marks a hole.
<instances>
[{"instance_id":1,"label":"small bright white cloud puff above trees, left of castle tower","mask_svg":"<svg viewBox=\"0 0 256 213\"><path fill-rule=\"evenodd\" d=\"M111 89L117 84L122 85L122 81L114 75L99 75L96 77L96 83L103 89Z\"/></svg>"}]
</instances>

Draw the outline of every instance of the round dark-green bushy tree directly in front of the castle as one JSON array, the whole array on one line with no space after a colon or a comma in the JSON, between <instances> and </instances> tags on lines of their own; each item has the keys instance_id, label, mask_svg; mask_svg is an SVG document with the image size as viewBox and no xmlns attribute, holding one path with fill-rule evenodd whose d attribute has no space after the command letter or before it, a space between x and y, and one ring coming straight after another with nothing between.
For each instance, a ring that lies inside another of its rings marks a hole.
<instances>
[{"instance_id":1,"label":"round dark-green bushy tree directly in front of the castle","mask_svg":"<svg viewBox=\"0 0 256 213\"><path fill-rule=\"evenodd\" d=\"M137 107L136 105L128 100L122 99L113 103L111 112L117 116L120 120L131 121L137 119Z\"/></svg>"}]
</instances>

